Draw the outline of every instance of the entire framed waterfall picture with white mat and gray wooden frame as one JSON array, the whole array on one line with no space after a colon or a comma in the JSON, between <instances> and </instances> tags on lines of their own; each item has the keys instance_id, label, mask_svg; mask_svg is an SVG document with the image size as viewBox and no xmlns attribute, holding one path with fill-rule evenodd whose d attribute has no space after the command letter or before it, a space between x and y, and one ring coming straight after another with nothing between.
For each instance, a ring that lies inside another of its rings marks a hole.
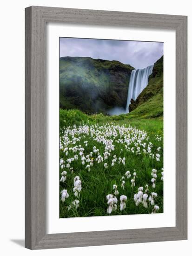
<instances>
[{"instance_id":1,"label":"entire framed waterfall picture with white mat and gray wooden frame","mask_svg":"<svg viewBox=\"0 0 192 256\"><path fill-rule=\"evenodd\" d=\"M25 14L26 248L187 239L187 17Z\"/></svg>"}]
</instances>

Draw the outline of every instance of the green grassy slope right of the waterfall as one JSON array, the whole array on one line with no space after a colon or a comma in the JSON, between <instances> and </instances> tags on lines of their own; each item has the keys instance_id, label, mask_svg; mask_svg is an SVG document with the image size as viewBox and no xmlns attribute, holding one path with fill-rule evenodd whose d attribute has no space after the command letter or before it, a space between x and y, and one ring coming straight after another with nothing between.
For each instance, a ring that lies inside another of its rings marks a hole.
<instances>
[{"instance_id":1,"label":"green grassy slope right of the waterfall","mask_svg":"<svg viewBox=\"0 0 192 256\"><path fill-rule=\"evenodd\" d=\"M148 85L146 88L139 94L136 101L133 99L131 100L131 104L129 105L129 112L132 112L139 107L144 109L143 104L147 105L150 103L148 105L152 106L153 101L156 105L156 108L159 108L159 111L156 115L163 115L163 56L154 64L152 74L149 76ZM137 112L138 111L139 109L137 109Z\"/></svg>"}]
</instances>

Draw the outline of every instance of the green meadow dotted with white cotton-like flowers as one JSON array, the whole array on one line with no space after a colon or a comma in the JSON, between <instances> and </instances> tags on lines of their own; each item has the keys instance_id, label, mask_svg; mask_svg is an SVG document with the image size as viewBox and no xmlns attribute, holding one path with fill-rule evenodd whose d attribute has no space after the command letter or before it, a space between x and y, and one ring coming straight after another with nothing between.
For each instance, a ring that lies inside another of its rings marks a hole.
<instances>
[{"instance_id":1,"label":"green meadow dotted with white cotton-like flowers","mask_svg":"<svg viewBox=\"0 0 192 256\"><path fill-rule=\"evenodd\" d=\"M60 110L60 218L163 212L163 119Z\"/></svg>"}]
</instances>

